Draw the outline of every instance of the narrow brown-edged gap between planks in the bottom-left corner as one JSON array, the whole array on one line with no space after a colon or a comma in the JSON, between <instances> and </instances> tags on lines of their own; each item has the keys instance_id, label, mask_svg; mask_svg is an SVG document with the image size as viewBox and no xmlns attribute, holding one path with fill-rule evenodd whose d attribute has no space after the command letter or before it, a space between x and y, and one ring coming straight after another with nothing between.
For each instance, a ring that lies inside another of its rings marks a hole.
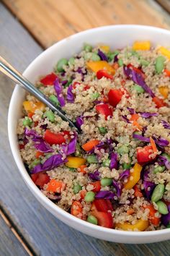
<instances>
[{"instance_id":1,"label":"narrow brown-edged gap between planks in the bottom-left corner","mask_svg":"<svg viewBox=\"0 0 170 256\"><path fill-rule=\"evenodd\" d=\"M18 239L19 243L22 244L22 247L25 249L27 254L29 256L36 255L35 252L33 252L32 248L30 248L29 244L27 244L27 242L24 241L23 237L19 235L19 232L17 231L17 229L13 225L12 221L9 220L6 213L4 213L4 211L1 210L1 209L0 209L0 216L1 216L1 218L3 218L6 225L9 226L9 229L11 229L12 233Z\"/></svg>"}]
</instances>

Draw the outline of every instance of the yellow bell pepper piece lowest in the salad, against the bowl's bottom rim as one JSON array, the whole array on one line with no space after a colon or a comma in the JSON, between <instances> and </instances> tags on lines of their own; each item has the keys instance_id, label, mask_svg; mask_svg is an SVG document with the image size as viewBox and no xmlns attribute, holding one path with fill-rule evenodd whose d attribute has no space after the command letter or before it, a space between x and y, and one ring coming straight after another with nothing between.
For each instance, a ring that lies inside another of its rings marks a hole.
<instances>
[{"instance_id":1,"label":"yellow bell pepper piece lowest in the salad, against the bowl's bottom rim","mask_svg":"<svg viewBox=\"0 0 170 256\"><path fill-rule=\"evenodd\" d=\"M130 224L128 222L125 223L115 223L115 226L119 229L123 229L126 231L138 229L138 231L145 231L149 226L149 221L144 221L143 219L139 219L135 224Z\"/></svg>"}]
</instances>

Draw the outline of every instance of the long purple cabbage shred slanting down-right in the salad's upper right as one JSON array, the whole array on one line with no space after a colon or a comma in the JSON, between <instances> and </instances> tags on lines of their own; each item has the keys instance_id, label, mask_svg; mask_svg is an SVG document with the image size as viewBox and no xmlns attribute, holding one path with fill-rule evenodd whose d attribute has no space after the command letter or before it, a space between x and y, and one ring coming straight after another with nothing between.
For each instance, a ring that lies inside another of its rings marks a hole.
<instances>
[{"instance_id":1,"label":"long purple cabbage shred slanting down-right in the salad's upper right","mask_svg":"<svg viewBox=\"0 0 170 256\"><path fill-rule=\"evenodd\" d=\"M152 98L155 97L155 94L153 93L151 88L146 85L146 82L140 73L136 72L134 69L130 69L130 67L127 66L123 67L123 71L128 78L133 80L133 82L135 82L137 85L140 85L146 91L146 93L151 95Z\"/></svg>"}]
</instances>

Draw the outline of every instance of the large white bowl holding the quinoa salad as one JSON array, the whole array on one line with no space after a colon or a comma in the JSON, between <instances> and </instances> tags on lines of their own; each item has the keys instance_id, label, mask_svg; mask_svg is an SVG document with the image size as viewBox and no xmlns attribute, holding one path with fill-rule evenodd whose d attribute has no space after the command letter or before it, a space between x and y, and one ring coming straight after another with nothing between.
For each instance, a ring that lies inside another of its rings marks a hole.
<instances>
[{"instance_id":1,"label":"large white bowl holding the quinoa salad","mask_svg":"<svg viewBox=\"0 0 170 256\"><path fill-rule=\"evenodd\" d=\"M24 77L27 77L31 82L35 82L37 77L42 74L48 74L53 70L54 65L62 57L69 58L73 54L81 51L84 43L96 45L99 43L112 46L114 48L123 48L133 43L134 40L151 40L153 46L162 45L168 46L170 41L170 31L163 30L157 27L148 27L140 25L112 25L107 27L97 27L91 30L71 35L70 37L61 40L55 45L48 48L40 56L38 56L24 71ZM77 229L85 234L94 236L99 239L104 239L112 242L120 243L151 243L160 242L170 239L170 229L161 231L119 231L115 229L106 229L101 226L95 226L86 221L81 221L79 218L72 216L65 210L62 210L36 187L30 176L27 174L22 158L19 154L17 142L17 121L22 114L22 102L24 101L25 91L17 85L12 94L12 99L9 106L8 116L8 132L9 142L12 148L14 160L17 163L20 174L24 182L30 188L32 193L37 197L37 200L44 207L53 213L58 219L66 223L68 226Z\"/></svg>"}]
</instances>

